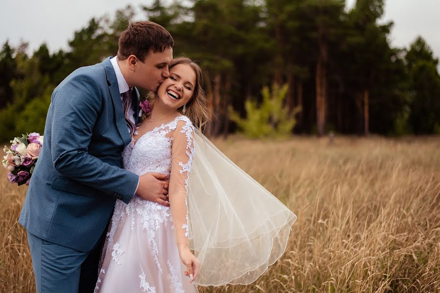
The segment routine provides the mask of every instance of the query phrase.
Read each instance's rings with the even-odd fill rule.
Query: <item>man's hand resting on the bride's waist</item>
[[[168,199],[168,175],[148,172],[139,176],[139,178],[139,187],[136,194],[145,200],[169,207],[169,202],[165,201]]]

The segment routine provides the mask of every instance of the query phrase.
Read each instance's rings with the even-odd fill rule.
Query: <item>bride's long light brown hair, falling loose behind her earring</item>
[[[194,127],[197,127],[202,131],[202,126],[208,122],[208,101],[203,90],[203,72],[197,63],[194,63],[191,59],[186,57],[175,58],[169,63],[168,69],[170,70],[178,64],[187,64],[191,66],[196,74],[196,84],[194,86],[194,92],[191,99],[185,105],[185,116],[191,120]],[[155,94],[150,93],[148,96],[149,102],[154,105]],[[183,106],[178,109],[181,113],[183,112]]]

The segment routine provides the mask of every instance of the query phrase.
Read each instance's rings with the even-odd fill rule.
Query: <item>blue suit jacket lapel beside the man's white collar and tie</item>
[[[116,127],[125,146],[128,146],[131,142],[131,136],[125,123],[124,109],[122,108],[121,94],[119,93],[119,86],[117,85],[115,69],[113,69],[112,63],[110,62],[110,57],[104,60],[102,64],[104,65],[105,74],[107,75],[109,91],[115,108]]]

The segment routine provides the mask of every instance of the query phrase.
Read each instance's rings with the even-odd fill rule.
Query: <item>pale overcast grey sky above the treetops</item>
[[[417,35],[440,56],[440,0],[385,0],[382,21],[394,21],[391,43],[408,47]],[[0,4],[0,43],[6,40],[16,46],[20,40],[29,42],[29,53],[46,42],[49,49],[67,49],[73,32],[84,27],[96,16],[109,14],[132,4],[148,5],[153,0],[2,0]],[[166,1],[169,2],[169,1]],[[347,6],[355,0],[347,0]],[[139,14],[138,19],[142,15]]]

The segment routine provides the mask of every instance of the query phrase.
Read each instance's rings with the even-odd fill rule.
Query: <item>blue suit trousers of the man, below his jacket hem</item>
[[[104,237],[105,232],[92,251],[83,252],[27,232],[37,293],[92,293]]]

